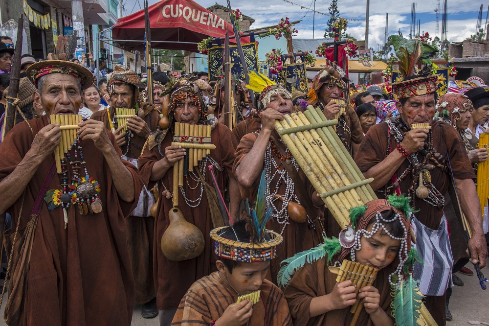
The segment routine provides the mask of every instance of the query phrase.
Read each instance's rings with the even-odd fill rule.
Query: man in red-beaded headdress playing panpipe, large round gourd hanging
[[[160,325],[169,325],[183,297],[193,282],[215,271],[215,259],[211,253],[211,239],[208,234],[212,229],[211,212],[204,185],[200,179],[212,185],[209,165],[213,165],[216,180],[222,189],[228,189],[230,196],[230,214],[234,218],[240,201],[239,188],[232,171],[236,141],[226,126],[216,121],[214,115],[208,115],[208,109],[202,97],[202,91],[210,91],[210,86],[203,80],[195,82],[180,79],[169,88],[168,114],[163,115],[160,126],[165,126],[148,140],[143,155],[139,157],[139,170],[148,188],[157,183],[159,189],[158,210],[155,220],[154,237],[154,275],[156,286],[156,302],[160,309]],[[211,125],[210,142],[216,146],[210,154],[204,155],[199,164],[174,192],[174,173],[178,161],[184,158],[186,150],[183,146],[171,145],[174,139],[175,122],[197,125]],[[182,133],[179,133],[180,135]],[[177,164],[176,164],[177,163]],[[190,162],[189,162],[190,165]],[[200,172],[197,172],[197,170]],[[219,191],[216,189],[216,191]],[[220,194],[217,193],[219,196]],[[172,197],[177,197],[173,198]],[[163,255],[160,240],[169,226],[169,211],[178,200],[178,209],[185,220],[195,225],[204,235],[203,252],[192,259],[173,261]],[[227,220],[227,218],[226,218]]]

